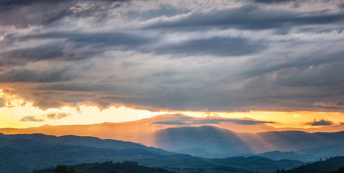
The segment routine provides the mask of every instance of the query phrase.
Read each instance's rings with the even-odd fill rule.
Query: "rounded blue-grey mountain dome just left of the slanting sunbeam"
[[[213,126],[167,128],[153,135],[158,148],[199,157],[228,157],[253,152],[235,132]]]

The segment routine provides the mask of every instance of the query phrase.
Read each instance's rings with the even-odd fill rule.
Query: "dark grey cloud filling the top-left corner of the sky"
[[[102,19],[107,16],[107,12],[110,9],[120,6],[112,4],[116,2],[121,2],[121,0],[1,1],[0,15],[6,16],[6,18],[0,19],[0,25],[14,25],[15,27],[23,28],[30,25],[49,25],[65,17],[77,19],[94,16],[97,19]],[[78,3],[89,3],[89,8],[80,9]]]

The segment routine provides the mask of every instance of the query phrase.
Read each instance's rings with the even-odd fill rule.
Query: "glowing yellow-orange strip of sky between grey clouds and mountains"
[[[149,118],[160,114],[182,113],[192,117],[224,117],[232,119],[255,119],[265,122],[275,128],[311,128],[305,122],[314,119],[325,119],[333,125],[341,124],[344,113],[319,111],[248,111],[248,112],[208,112],[208,111],[148,111],[127,106],[111,106],[100,110],[97,106],[80,105],[78,108],[63,106],[61,108],[48,108],[42,110],[32,102],[23,100],[20,95],[8,94],[0,89],[0,97],[5,100],[0,108],[0,128],[29,128],[46,124],[72,125],[72,124],[99,124],[103,122],[129,122]],[[49,118],[52,113],[64,113],[65,117]],[[35,117],[36,121],[21,121],[23,117]]]

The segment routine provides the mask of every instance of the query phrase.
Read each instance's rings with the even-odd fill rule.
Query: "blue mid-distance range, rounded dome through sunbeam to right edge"
[[[208,158],[261,153],[260,156],[270,159],[316,161],[320,157],[344,154],[344,131],[275,131],[255,134],[198,126],[166,128],[153,135],[158,148]],[[279,152],[269,153],[272,151]]]

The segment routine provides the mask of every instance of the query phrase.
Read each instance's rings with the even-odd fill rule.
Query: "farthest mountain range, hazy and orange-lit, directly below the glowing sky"
[[[343,125],[326,126],[320,128],[275,128],[268,126],[265,122],[253,119],[228,119],[223,117],[190,117],[182,114],[164,114],[155,117],[140,119],[132,122],[101,123],[88,125],[61,125],[61,126],[39,126],[32,128],[0,128],[3,134],[32,134],[43,133],[45,135],[78,135],[92,136],[101,139],[116,139],[122,141],[133,141],[143,143],[146,146],[154,146],[153,132],[166,128],[195,126],[214,126],[224,128],[233,132],[268,132],[297,130],[305,132],[333,132],[343,131]]]

